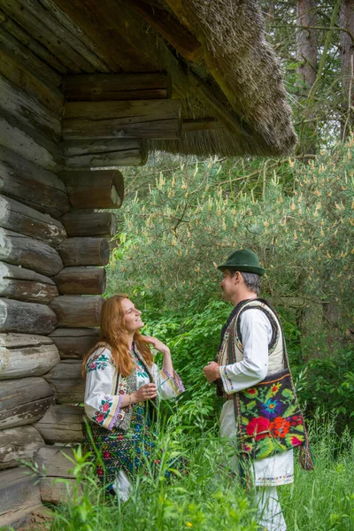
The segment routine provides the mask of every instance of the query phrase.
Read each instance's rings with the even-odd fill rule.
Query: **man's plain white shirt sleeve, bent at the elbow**
[[[272,336],[269,319],[255,308],[243,312],[240,319],[243,359],[219,367],[227,395],[256,385],[266,378],[268,372],[268,343]]]

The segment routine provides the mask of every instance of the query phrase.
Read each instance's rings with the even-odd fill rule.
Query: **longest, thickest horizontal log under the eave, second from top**
[[[69,102],[65,104],[65,140],[90,138],[174,139],[181,136],[181,100]]]

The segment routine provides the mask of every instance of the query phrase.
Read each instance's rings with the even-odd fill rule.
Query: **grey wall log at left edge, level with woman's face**
[[[0,332],[48,335],[56,325],[55,313],[45,304],[0,299]]]

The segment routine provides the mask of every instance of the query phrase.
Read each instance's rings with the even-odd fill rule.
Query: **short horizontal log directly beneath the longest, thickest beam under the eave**
[[[138,138],[71,140],[61,146],[67,168],[144,165],[148,159],[146,144]]]

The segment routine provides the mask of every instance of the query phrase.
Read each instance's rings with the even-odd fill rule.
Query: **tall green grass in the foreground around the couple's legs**
[[[315,419],[311,434],[316,470],[304,472],[296,459],[295,483],[279,489],[288,530],[354,531],[353,440],[347,431],[335,435],[334,419]],[[258,529],[250,496],[222,466],[227,447],[215,430],[203,430],[196,437],[194,428],[179,427],[178,416],[173,415],[158,438],[165,459],[157,472],[148,466],[147,473],[138,475],[126,504],[104,494],[92,468],[88,473],[87,458],[79,455],[77,488],[68,504],[57,509],[50,531]],[[177,471],[167,480],[168,461],[177,455],[189,459],[188,473]]]

